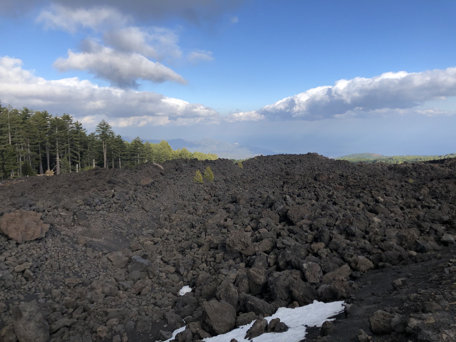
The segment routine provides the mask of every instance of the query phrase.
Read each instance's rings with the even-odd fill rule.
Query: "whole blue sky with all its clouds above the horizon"
[[[2,2],[2,104],[145,139],[456,152],[455,1]]]

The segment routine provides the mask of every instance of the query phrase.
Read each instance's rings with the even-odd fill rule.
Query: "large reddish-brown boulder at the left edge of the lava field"
[[[44,238],[49,224],[41,221],[40,212],[16,210],[0,218],[0,233],[8,235],[17,243]]]

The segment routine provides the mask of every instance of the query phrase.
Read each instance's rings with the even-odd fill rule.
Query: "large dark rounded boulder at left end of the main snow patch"
[[[217,334],[225,334],[235,326],[236,311],[226,301],[204,301],[202,311],[204,321]]]

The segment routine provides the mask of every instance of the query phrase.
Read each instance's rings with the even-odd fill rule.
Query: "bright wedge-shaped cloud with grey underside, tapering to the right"
[[[83,52],[68,50],[67,58],[58,58],[53,66],[59,71],[88,71],[99,78],[120,86],[137,86],[136,80],[143,79],[162,83],[174,81],[185,84],[184,78],[158,62],[152,62],[135,52],[119,52],[110,47],[86,40]]]

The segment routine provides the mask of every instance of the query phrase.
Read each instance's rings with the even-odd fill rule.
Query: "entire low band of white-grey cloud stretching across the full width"
[[[454,115],[456,111],[417,107],[429,100],[456,96],[456,67],[422,73],[384,73],[373,78],[340,80],[284,98],[258,111],[227,116],[203,104],[119,87],[99,87],[88,80],[46,80],[22,68],[22,61],[0,58],[3,104],[70,113],[84,124],[107,119],[116,127],[218,124],[247,121],[313,121],[346,117],[418,114]]]

